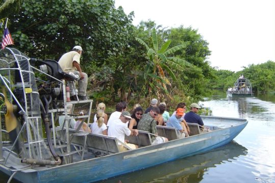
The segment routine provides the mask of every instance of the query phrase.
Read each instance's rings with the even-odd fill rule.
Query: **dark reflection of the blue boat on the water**
[[[247,150],[232,141],[201,155],[163,163],[98,182],[200,182],[209,168],[237,160],[239,156],[245,156],[248,153]]]

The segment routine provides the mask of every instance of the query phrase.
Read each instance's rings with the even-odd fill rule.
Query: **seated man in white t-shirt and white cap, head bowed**
[[[108,128],[108,136],[116,137],[120,142],[119,151],[126,151],[129,149],[136,149],[139,146],[125,141],[125,135],[139,135],[139,131],[136,129],[128,129],[127,122],[131,119],[131,114],[128,111],[122,111],[119,119],[115,119]]]

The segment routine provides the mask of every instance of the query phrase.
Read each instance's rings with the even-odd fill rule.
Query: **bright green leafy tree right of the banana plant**
[[[214,69],[207,61],[211,51],[208,43],[198,34],[198,31],[183,25],[170,29],[168,39],[171,39],[171,45],[186,44],[184,49],[178,50],[174,56],[184,58],[192,64],[192,68],[184,68],[178,72],[181,83],[177,84],[180,90],[186,95],[193,96],[194,100],[201,100],[204,96],[211,94],[212,83],[210,80],[214,77]]]

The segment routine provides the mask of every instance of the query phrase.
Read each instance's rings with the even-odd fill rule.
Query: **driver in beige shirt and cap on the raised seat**
[[[62,70],[66,73],[72,72],[75,75],[79,76],[78,80],[78,99],[79,100],[86,100],[86,90],[88,85],[88,75],[82,72],[80,67],[80,56],[83,50],[81,46],[73,47],[72,51],[69,51],[61,56],[59,59],[59,65]],[[73,92],[73,85],[71,82],[70,84],[70,96],[73,100],[76,100],[75,93]]]

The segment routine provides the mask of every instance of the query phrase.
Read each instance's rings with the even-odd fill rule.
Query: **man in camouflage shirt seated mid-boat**
[[[152,107],[150,112],[147,114],[143,114],[142,118],[139,121],[139,124],[137,124],[137,130],[143,130],[150,132],[152,134],[157,135],[157,129],[156,129],[156,120],[154,119],[159,114],[159,108],[158,107]],[[165,137],[156,137],[152,136],[152,144],[159,144],[162,142],[168,142],[168,139]]]

